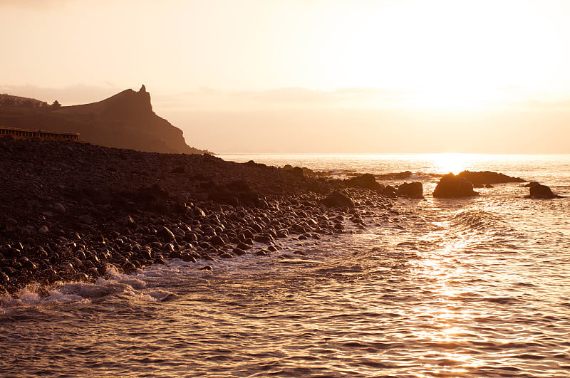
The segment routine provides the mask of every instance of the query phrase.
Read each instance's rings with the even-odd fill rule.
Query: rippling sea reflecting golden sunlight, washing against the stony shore
[[[110,272],[46,298],[28,288],[0,305],[0,376],[570,376],[570,155],[219,157],[339,178],[409,170],[388,183],[420,181],[425,199],[269,256]],[[524,199],[522,184],[431,196],[463,169],[564,197]]]

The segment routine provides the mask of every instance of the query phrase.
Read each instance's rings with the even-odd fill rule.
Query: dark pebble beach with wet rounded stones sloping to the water
[[[79,142],[0,140],[0,296],[168,258],[278,253],[279,239],[364,229],[393,199],[264,164]]]

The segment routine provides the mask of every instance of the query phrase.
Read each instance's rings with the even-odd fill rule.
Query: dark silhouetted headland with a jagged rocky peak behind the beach
[[[0,102],[0,126],[78,132],[81,140],[93,145],[138,151],[185,154],[208,152],[188,146],[182,130],[152,111],[150,93],[146,91],[145,85],[138,92],[123,90],[98,103],[86,105],[60,107],[46,104],[38,107],[26,106],[29,102],[25,100],[16,104]]]

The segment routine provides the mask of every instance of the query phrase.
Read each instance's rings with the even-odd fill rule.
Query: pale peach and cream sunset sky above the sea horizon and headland
[[[570,153],[570,1],[0,0],[0,93],[217,153]]]

